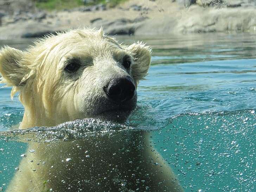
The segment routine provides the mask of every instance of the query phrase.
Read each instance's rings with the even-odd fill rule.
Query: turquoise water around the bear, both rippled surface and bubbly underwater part
[[[151,129],[155,148],[185,191],[256,191],[256,36],[140,39],[154,49],[152,66],[127,124]],[[3,44],[24,49],[31,41]],[[23,107],[17,98],[10,100],[10,90],[0,89],[0,131],[22,120]],[[0,140],[3,191],[26,145]]]

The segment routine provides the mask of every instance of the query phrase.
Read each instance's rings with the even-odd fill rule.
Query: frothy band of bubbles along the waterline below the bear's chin
[[[51,142],[83,139],[89,135],[110,134],[124,130],[135,130],[126,124],[102,121],[98,119],[74,120],[53,127],[33,127],[29,129],[11,129],[0,132],[4,140],[21,142]]]

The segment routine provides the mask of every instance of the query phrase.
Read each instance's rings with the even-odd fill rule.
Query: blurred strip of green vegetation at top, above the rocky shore
[[[84,4],[83,0],[34,0],[36,7],[39,9],[45,9],[47,11],[72,9],[79,6],[90,6],[97,4],[105,4],[108,7],[115,7],[127,0],[92,0],[91,2]]]

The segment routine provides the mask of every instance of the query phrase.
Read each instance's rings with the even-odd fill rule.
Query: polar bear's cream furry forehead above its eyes
[[[51,66],[55,63],[55,66],[60,68],[68,58],[72,57],[89,61],[98,59],[120,61],[124,56],[130,56],[133,60],[133,55],[130,55],[126,46],[120,45],[114,38],[99,31],[82,32],[71,31],[41,39],[28,50],[28,55],[34,56],[34,60],[37,61],[34,64],[37,68],[45,68],[49,63]]]

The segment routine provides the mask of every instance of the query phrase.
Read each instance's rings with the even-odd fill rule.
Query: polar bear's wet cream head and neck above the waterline
[[[0,51],[1,83],[19,91],[21,128],[84,118],[125,121],[136,107],[151,48],[118,44],[102,30],[77,29],[38,40],[26,51]]]

